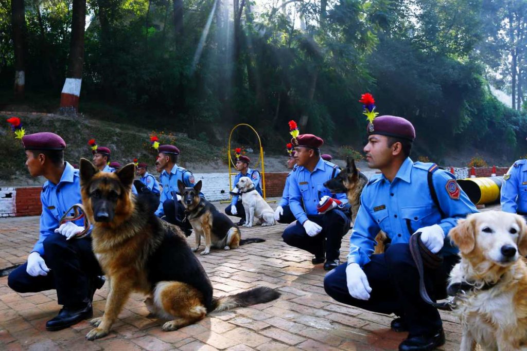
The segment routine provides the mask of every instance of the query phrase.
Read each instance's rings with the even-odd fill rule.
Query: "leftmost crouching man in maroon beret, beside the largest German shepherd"
[[[92,317],[93,294],[104,280],[90,236],[75,238],[85,229],[82,220],[59,224],[72,205],[82,202],[79,170],[63,159],[66,143],[53,133],[26,135],[22,143],[31,176],[44,176],[47,182],[41,193],[38,241],[27,262],[9,274],[7,285],[18,293],[56,289],[63,308],[46,329],[60,330]]]

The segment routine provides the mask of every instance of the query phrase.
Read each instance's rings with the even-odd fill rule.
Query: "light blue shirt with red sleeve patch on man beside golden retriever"
[[[379,230],[392,239],[392,244],[407,244],[418,229],[434,224],[441,226],[445,235],[441,253],[457,253],[457,247],[451,245],[446,235],[459,218],[476,213],[477,209],[454,176],[437,169],[432,180],[445,214],[442,218],[428,187],[428,169],[434,166],[406,158],[392,183],[383,174],[370,178],[360,196],[360,208],[350,237],[348,264],[357,263],[362,267],[370,261]]]

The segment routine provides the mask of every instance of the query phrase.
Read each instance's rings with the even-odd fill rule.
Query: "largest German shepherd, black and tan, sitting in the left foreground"
[[[155,216],[131,193],[134,164],[115,173],[99,172],[87,159],[80,163],[85,215],[93,223],[92,247],[110,293],[104,315],[91,320],[94,340],[107,335],[131,292],[148,296],[151,313],[169,319],[163,330],[175,330],[209,312],[265,303],[280,296],[267,287],[214,298],[212,285],[181,229]]]

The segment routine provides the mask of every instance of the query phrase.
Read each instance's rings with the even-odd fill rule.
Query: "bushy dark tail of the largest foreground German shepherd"
[[[214,298],[212,312],[222,312],[236,307],[247,307],[256,304],[263,304],[280,297],[280,293],[266,286],[250,289],[246,292]]]

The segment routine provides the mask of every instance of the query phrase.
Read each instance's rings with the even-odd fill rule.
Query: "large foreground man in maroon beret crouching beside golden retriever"
[[[443,326],[437,309],[419,295],[409,238],[421,232],[423,244],[443,256],[442,266],[425,270],[425,278],[431,298],[444,298],[448,274],[458,261],[447,234],[459,218],[477,210],[452,174],[409,158],[415,130],[406,119],[379,116],[368,124],[368,134],[366,161],[382,174],[364,188],[348,262],[326,275],[324,288],[338,302],[397,315],[392,329],[409,332],[399,350],[432,350],[445,342]],[[385,253],[373,255],[379,230],[392,242]]]

